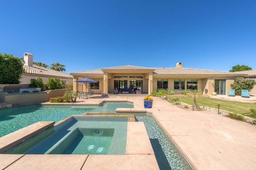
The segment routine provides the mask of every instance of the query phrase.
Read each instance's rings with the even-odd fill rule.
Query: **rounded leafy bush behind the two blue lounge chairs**
[[[244,90],[252,90],[256,81],[250,78],[237,77],[235,82],[230,85],[232,89],[238,92],[237,95],[241,95],[242,89]]]

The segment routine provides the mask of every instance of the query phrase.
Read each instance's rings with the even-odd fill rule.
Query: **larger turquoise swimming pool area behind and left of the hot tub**
[[[115,112],[116,108],[134,108],[130,102],[104,102],[101,105],[29,105],[0,111],[0,137],[38,121],[58,122],[85,112]]]

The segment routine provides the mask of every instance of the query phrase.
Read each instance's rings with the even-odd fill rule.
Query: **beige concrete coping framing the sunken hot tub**
[[[66,117],[65,120],[68,120],[72,116],[85,116],[85,117],[91,117],[91,116],[102,116],[102,115],[70,115],[69,117]],[[107,115],[106,117],[120,117],[124,115]],[[28,167],[31,167],[32,169],[40,166],[44,166],[46,168],[49,164],[49,162],[52,164],[52,167],[57,166],[56,169],[63,169],[64,167],[67,169],[76,169],[79,167],[79,169],[97,169],[99,168],[99,164],[95,164],[94,161],[97,160],[97,162],[100,162],[101,167],[116,167],[116,169],[126,169],[127,167],[148,167],[148,169],[159,169],[158,163],[156,161],[156,157],[154,155],[153,148],[151,146],[150,140],[148,138],[148,134],[146,132],[146,128],[144,126],[143,122],[135,122],[134,115],[126,115],[129,117],[129,121],[127,124],[127,140],[126,140],[126,154],[125,155],[59,155],[54,154],[55,157],[52,157],[52,155],[35,155],[35,154],[0,154],[0,159],[4,160],[0,163],[0,169],[29,169]],[[132,118],[133,117],[133,118]],[[31,136],[35,135],[38,131],[42,131],[44,129],[59,125],[65,120],[58,121],[54,124],[54,122],[39,122],[34,123],[28,127],[22,128],[20,130],[17,130],[16,133],[19,133],[19,138],[16,138],[16,133],[10,133],[5,136],[4,138],[0,138],[0,143],[8,143],[6,139],[12,138],[12,140],[17,139],[17,141],[22,142],[22,140],[26,140],[30,138]],[[32,128],[33,127],[33,128]],[[34,129],[34,130],[33,130]],[[29,134],[28,134],[29,133]],[[22,139],[22,140],[21,140]],[[17,144],[17,143],[16,143]],[[10,149],[13,147],[13,145],[7,145]],[[77,159],[74,159],[74,157],[78,157],[79,161],[77,162]],[[66,164],[66,160],[68,159],[69,164]],[[111,159],[109,161],[108,159]],[[37,160],[37,161],[35,161]],[[54,161],[58,160],[58,162]],[[132,163],[127,164],[131,160]],[[38,164],[39,162],[39,164]],[[54,166],[55,165],[55,166]],[[51,168],[52,168],[51,167]],[[49,167],[50,168],[50,167]]]

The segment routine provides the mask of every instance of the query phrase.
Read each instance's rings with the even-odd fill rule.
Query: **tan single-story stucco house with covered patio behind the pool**
[[[226,95],[230,84],[236,77],[245,77],[245,73],[212,71],[204,69],[182,68],[182,63],[172,68],[148,68],[132,65],[108,67],[89,71],[70,73],[74,77],[74,91],[94,90],[95,93],[113,93],[114,89],[141,89],[148,95],[157,89],[173,89],[175,94],[182,90],[200,89],[204,94],[217,92]],[[78,79],[88,77],[97,83],[77,83]]]

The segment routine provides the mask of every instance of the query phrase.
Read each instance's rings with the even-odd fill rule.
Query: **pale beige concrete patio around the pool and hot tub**
[[[154,115],[195,169],[255,169],[256,128],[208,111],[185,111],[158,97],[153,97],[152,109],[144,109],[143,97],[95,95],[94,99],[80,99],[74,104],[133,102],[134,108],[119,111],[148,112]],[[134,127],[132,122],[129,126],[129,133],[135,129],[134,133],[138,134],[144,131],[142,127]],[[150,145],[148,141],[146,144]],[[134,145],[130,143],[130,146]],[[0,159],[0,169],[158,169],[153,153],[136,154],[135,150],[126,155],[0,154]]]

